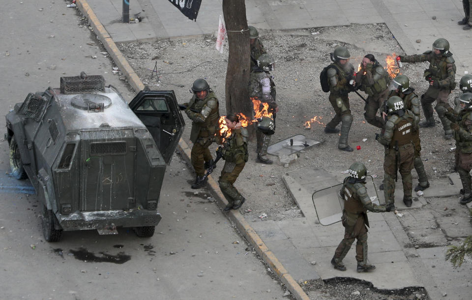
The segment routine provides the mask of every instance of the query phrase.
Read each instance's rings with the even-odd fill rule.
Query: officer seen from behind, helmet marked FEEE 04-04
[[[418,130],[414,114],[405,109],[402,98],[392,96],[388,98],[388,115],[383,134],[376,135],[376,139],[385,146],[385,160],[383,162],[383,192],[385,205],[389,209],[394,206],[394,192],[397,169],[402,176],[403,202],[407,207],[412,206],[412,169],[413,169],[413,132]]]

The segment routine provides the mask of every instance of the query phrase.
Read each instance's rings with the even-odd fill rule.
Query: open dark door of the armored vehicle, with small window
[[[185,122],[174,91],[140,91],[129,107],[146,125],[166,164],[170,164]]]

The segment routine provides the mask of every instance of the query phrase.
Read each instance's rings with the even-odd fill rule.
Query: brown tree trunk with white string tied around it
[[[251,55],[244,0],[223,0],[223,16],[230,52],[226,70],[226,112],[242,112],[250,119],[253,109],[248,88]],[[248,130],[252,132],[252,126]]]

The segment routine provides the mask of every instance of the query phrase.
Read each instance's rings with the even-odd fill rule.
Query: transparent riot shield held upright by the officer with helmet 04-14
[[[368,178],[370,178],[370,180]],[[374,178],[371,175],[367,175],[366,182],[365,187],[372,203],[379,205],[379,195],[377,194]],[[343,184],[340,183],[329,188],[324,188],[315,191],[311,196],[313,205],[315,206],[316,216],[323,226],[341,221],[344,199],[339,194],[339,191],[342,186]]]

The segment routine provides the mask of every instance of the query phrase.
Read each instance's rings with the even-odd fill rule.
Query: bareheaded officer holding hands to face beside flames
[[[379,108],[387,100],[390,78],[383,66],[375,59],[374,55],[365,55],[360,64],[360,70],[356,73],[355,84],[361,91],[367,94],[364,106],[365,120],[376,127],[383,128],[383,118],[377,115]]]

